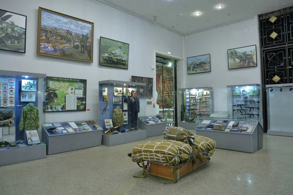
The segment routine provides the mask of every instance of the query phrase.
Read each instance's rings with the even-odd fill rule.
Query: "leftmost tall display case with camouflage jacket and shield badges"
[[[45,157],[40,142],[45,78],[0,70],[0,166]]]

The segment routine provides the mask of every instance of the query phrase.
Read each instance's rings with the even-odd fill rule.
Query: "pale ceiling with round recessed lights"
[[[189,35],[293,5],[293,0],[98,1],[104,1],[180,35]],[[223,8],[217,9],[218,5]],[[195,12],[200,12],[200,15],[195,16]]]

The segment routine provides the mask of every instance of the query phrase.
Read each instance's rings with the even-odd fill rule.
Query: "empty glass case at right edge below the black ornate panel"
[[[293,137],[293,84],[266,86],[268,135]]]

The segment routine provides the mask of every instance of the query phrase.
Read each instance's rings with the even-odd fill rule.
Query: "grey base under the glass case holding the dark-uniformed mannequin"
[[[111,136],[103,134],[102,137],[103,145],[115,146],[146,139],[146,130],[118,133]]]

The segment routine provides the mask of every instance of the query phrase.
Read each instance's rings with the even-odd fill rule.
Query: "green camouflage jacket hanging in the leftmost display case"
[[[19,130],[36,130],[39,127],[39,109],[33,103],[29,103],[22,109]]]

